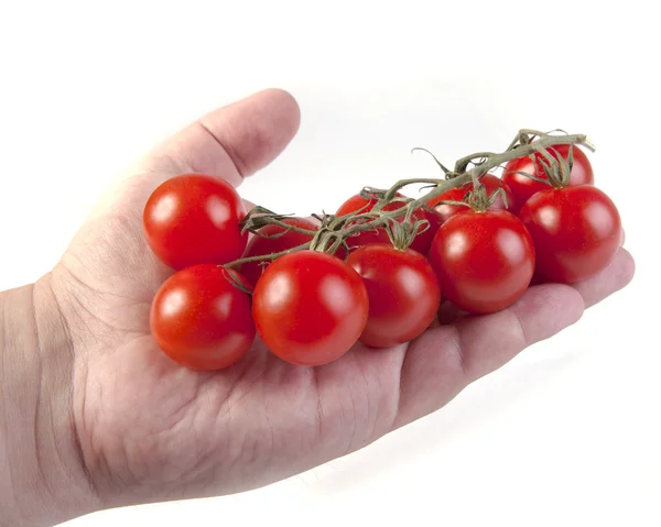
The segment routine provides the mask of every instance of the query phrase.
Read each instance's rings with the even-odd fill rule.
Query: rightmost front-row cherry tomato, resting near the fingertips
[[[596,275],[619,248],[619,212],[592,185],[538,193],[519,217],[534,241],[538,273],[553,282],[571,284]]]

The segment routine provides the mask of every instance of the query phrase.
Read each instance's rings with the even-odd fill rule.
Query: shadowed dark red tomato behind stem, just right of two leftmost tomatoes
[[[311,231],[316,231],[318,229],[318,227],[312,221],[303,218],[286,218],[282,221],[289,226],[297,227],[300,229],[307,229]],[[312,234],[303,234],[302,232],[286,230],[284,227],[273,224],[262,227],[259,232],[268,237],[273,237],[274,234],[280,234],[282,232],[284,232],[284,234],[277,238],[262,238],[260,235],[252,237],[252,239],[248,242],[243,257],[279,253],[302,245],[303,243],[307,243],[312,241],[313,238]],[[241,265],[239,271],[248,279],[248,282],[254,285],[262,275],[264,267],[266,265],[262,265],[261,262],[247,262]]]

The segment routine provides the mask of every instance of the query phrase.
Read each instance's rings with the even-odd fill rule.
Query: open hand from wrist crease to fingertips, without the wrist
[[[299,121],[280,90],[204,117],[139,163],[48,275],[74,349],[77,439],[104,505],[245,491],[344,455],[442,407],[631,279],[620,249],[586,283],[531,287],[509,309],[437,326],[409,345],[356,345],[313,369],[280,361],[257,340],[226,371],[183,369],[149,332],[151,300],[172,271],[143,239],[144,202],[184,172],[238,185],[286,146]]]

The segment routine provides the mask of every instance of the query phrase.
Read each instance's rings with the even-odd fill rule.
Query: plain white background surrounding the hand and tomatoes
[[[57,261],[102,190],[201,113],[278,86],[297,139],[241,193],[334,210],[520,128],[587,133],[638,271],[443,410],[270,487],[76,527],[661,525],[661,48],[653,2],[0,0],[0,287]],[[655,51],[654,51],[655,50]]]

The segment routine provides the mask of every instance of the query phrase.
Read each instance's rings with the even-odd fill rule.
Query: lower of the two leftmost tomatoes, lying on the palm
[[[241,359],[254,339],[250,295],[235,271],[193,265],[167,278],[151,307],[151,332],[166,355],[193,370],[220,370]]]

